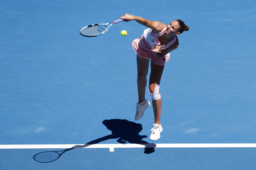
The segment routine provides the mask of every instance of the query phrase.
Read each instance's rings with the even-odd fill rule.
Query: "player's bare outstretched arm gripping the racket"
[[[124,21],[131,21],[135,20],[139,24],[146,26],[148,28],[152,28],[154,30],[154,33],[161,32],[167,25],[164,23],[161,23],[159,21],[150,21],[148,19],[144,19],[142,17],[138,17],[135,15],[125,14],[124,16],[120,17],[121,19],[124,19]]]

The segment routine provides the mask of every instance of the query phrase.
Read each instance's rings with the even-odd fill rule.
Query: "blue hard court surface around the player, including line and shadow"
[[[151,106],[134,121],[131,43],[146,27],[131,21],[99,37],[79,33],[125,13],[190,27],[164,68],[157,141],[149,140]],[[255,20],[254,0],[2,2],[0,169],[255,169]],[[47,161],[48,151],[65,153],[35,160],[41,153]]]

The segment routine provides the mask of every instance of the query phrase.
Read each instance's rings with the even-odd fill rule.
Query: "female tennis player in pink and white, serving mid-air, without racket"
[[[135,120],[139,120],[144,115],[144,111],[150,106],[150,102],[145,99],[145,90],[149,62],[151,60],[148,91],[152,98],[155,122],[149,139],[157,140],[163,131],[160,122],[162,107],[162,99],[159,92],[160,80],[165,63],[170,59],[170,52],[179,46],[177,35],[183,33],[183,31],[188,31],[189,27],[179,19],[172,21],[167,26],[158,21],[149,21],[130,14],[125,14],[120,18],[126,22],[135,20],[139,24],[148,27],[148,29],[144,30],[140,39],[132,41],[132,48],[137,53],[137,85],[139,95]]]

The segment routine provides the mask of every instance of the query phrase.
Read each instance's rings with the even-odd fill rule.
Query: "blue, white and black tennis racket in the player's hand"
[[[105,23],[105,24],[92,24],[89,26],[85,26],[80,30],[80,34],[85,37],[96,37],[106,33],[110,26],[113,26],[114,24],[121,21],[123,21],[123,19],[117,19],[113,22]]]

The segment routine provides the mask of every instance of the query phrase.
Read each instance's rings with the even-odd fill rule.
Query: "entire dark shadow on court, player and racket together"
[[[52,162],[59,159],[63,153],[69,150],[72,150],[75,148],[85,148],[92,144],[98,144],[108,139],[117,139],[117,142],[119,142],[120,144],[127,144],[127,143],[142,144],[142,145],[145,144],[144,153],[149,154],[149,153],[155,152],[154,148],[156,147],[156,144],[148,145],[149,144],[148,142],[142,140],[147,136],[139,135],[140,131],[142,130],[142,125],[140,123],[131,122],[125,119],[104,120],[102,123],[107,127],[108,130],[112,131],[111,135],[107,135],[107,136],[95,139],[84,145],[76,145],[76,146],[73,146],[72,148],[68,148],[62,151],[40,152],[34,155],[33,159],[41,163]]]

